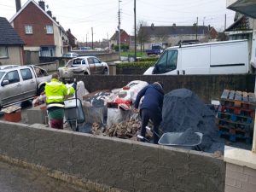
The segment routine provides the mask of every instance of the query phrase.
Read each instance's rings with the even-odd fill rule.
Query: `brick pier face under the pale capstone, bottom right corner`
[[[227,163],[225,181],[225,192],[255,192],[256,170]]]

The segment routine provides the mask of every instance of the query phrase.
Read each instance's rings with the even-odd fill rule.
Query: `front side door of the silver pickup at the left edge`
[[[1,82],[1,91],[3,91],[2,105],[7,105],[11,102],[19,102],[23,97],[22,85],[18,70],[13,70],[6,73]]]

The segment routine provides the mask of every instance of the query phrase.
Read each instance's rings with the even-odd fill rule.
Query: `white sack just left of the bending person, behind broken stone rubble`
[[[122,121],[127,121],[131,117],[131,110],[124,111],[119,108],[108,108],[107,126],[111,127],[113,124],[118,124]]]

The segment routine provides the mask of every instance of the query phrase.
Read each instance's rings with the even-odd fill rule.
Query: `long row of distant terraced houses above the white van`
[[[218,37],[218,32],[212,26],[140,26],[138,32],[138,44],[143,44],[145,49],[150,44],[167,44],[173,46],[180,41],[208,42]]]

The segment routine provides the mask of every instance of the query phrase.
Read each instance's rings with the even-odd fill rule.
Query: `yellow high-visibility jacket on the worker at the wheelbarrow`
[[[51,79],[44,88],[47,108],[64,108],[64,96],[72,96],[75,92],[73,87],[67,88],[65,84],[57,79]]]

